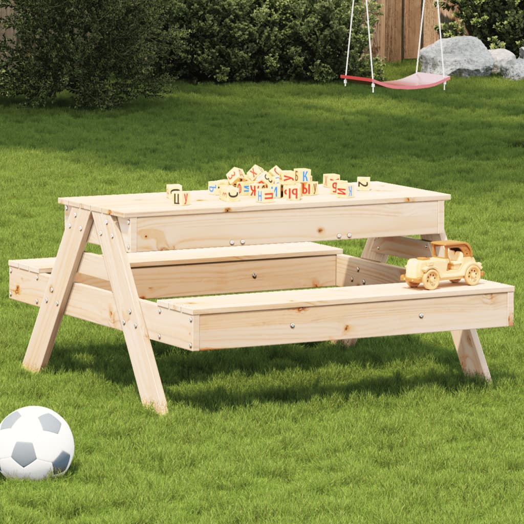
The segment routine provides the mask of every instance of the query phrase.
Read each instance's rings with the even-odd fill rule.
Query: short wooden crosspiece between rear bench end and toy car
[[[360,257],[350,255],[337,255],[336,257],[337,286],[372,286],[399,282],[400,275],[405,272],[406,270],[402,267]]]

